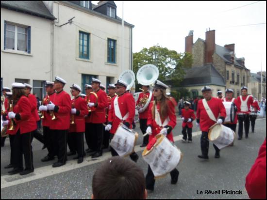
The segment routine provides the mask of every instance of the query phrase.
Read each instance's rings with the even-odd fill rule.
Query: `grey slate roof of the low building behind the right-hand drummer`
[[[218,85],[225,86],[224,78],[212,64],[186,70],[181,86]]]

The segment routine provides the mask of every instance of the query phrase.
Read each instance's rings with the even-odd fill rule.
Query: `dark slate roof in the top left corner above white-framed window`
[[[1,7],[50,20],[56,19],[47,9],[43,1],[1,0]]]

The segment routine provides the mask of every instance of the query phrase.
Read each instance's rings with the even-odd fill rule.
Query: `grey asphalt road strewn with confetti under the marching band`
[[[170,185],[170,176],[156,181],[155,190],[149,199],[249,199],[245,189],[245,178],[257,157],[259,147],[266,138],[266,118],[257,119],[255,133],[249,134],[249,139],[235,140],[233,147],[221,150],[221,157],[214,158],[215,150],[210,142],[208,161],[197,157],[200,154],[200,132],[193,128],[193,142],[182,143],[182,123],[174,129],[175,144],[184,154],[178,165],[180,171],[177,185]],[[194,123],[195,125],[195,123]],[[139,133],[135,151],[139,155],[138,166],[147,173],[148,165],[141,157],[142,143],[139,123],[136,129]],[[250,128],[251,129],[251,128]],[[43,163],[40,159],[47,154],[41,150],[42,144],[33,140],[34,172],[25,176],[8,175],[10,169],[3,169],[9,164],[9,140],[1,148],[1,199],[90,199],[92,194],[92,177],[101,162],[111,156],[106,152],[98,159],[92,160],[86,156],[83,163],[77,164],[68,156],[65,166],[52,168],[55,161]],[[86,146],[85,146],[86,147]],[[105,151],[104,151],[105,152]],[[220,194],[205,194],[219,191]],[[228,191],[228,194],[222,192]],[[201,191],[203,194],[200,194]],[[230,194],[229,194],[230,193]],[[233,194],[237,193],[237,194]],[[241,194],[240,194],[241,193]]]

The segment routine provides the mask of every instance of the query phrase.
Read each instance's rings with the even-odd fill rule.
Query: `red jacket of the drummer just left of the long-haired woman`
[[[134,120],[134,115],[135,115],[135,101],[134,101],[134,96],[129,93],[125,92],[122,95],[118,96],[118,107],[121,113],[121,116],[124,117],[128,112],[129,116],[126,120],[121,121],[116,115],[115,115],[115,108],[114,108],[114,101],[115,97],[112,98],[111,100],[111,108],[108,113],[108,122],[112,123],[112,127],[110,130],[110,133],[115,134],[117,131],[117,127],[119,123],[123,122],[128,122],[130,124],[130,128],[132,128],[132,123]]]

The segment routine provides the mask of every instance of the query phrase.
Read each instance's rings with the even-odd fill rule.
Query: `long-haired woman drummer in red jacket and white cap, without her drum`
[[[150,103],[148,115],[149,142],[157,135],[164,134],[171,142],[173,135],[171,130],[176,125],[175,107],[173,102],[166,96],[168,86],[163,82],[156,80],[153,88],[154,101]],[[159,115],[159,116],[158,116]],[[157,117],[158,116],[158,117]],[[159,122],[161,121],[161,122]],[[170,172],[171,184],[178,181],[179,171],[175,168]],[[146,175],[146,189],[153,191],[155,185],[154,174],[150,168]]]

